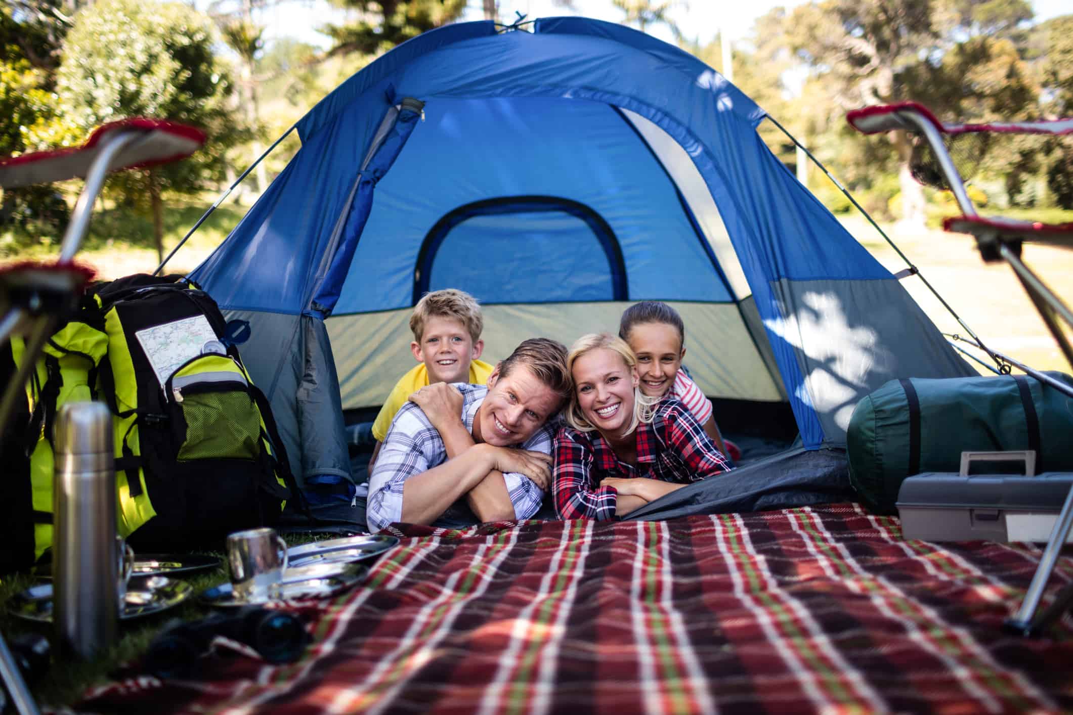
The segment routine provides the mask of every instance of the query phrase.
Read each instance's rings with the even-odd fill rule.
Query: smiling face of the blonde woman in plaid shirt
[[[633,421],[637,371],[613,349],[598,347],[574,360],[571,371],[582,415],[604,435],[620,435]]]

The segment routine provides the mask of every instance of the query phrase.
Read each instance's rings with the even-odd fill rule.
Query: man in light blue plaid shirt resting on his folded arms
[[[534,338],[496,366],[487,387],[438,383],[414,392],[369,477],[369,531],[532,517],[550,488],[547,422],[570,390],[567,348]]]

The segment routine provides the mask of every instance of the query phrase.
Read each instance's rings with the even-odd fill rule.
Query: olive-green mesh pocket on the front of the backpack
[[[187,423],[180,461],[256,459],[261,453],[260,413],[247,392],[186,390],[179,407]]]

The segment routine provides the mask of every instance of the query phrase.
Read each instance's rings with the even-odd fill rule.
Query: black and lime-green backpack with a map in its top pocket
[[[5,435],[29,455],[31,503],[15,485],[3,491],[23,500],[14,509],[33,522],[33,550],[0,568],[26,567],[52,546],[52,427],[75,400],[112,409],[117,528],[135,551],[219,547],[231,532],[276,523],[296,487],[268,401],[227,330],[216,301],[178,277],[131,275],[86,292],[27,385],[27,427]],[[16,361],[21,351],[13,340]],[[6,472],[6,482],[19,479]],[[25,541],[25,525],[10,528]]]

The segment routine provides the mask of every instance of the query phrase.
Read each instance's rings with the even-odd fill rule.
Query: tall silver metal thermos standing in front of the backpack
[[[56,416],[53,617],[58,650],[89,658],[119,630],[119,541],[112,413],[73,402]]]

